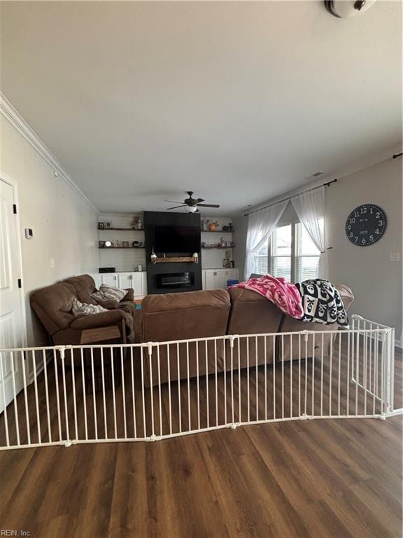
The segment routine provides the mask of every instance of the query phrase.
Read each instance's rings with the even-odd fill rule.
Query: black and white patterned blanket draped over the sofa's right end
[[[295,284],[302,298],[302,322],[348,326],[346,309],[339,291],[328,280],[304,280]]]

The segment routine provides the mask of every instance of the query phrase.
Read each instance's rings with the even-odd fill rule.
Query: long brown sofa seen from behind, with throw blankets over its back
[[[346,286],[337,286],[346,309],[353,301],[353,294]],[[191,338],[209,338],[229,334],[259,334],[287,333],[292,331],[332,331],[337,325],[304,323],[284,315],[273,303],[254,291],[234,288],[229,292],[222,289],[208,291],[191,291],[181,294],[149,295],[144,298],[141,310],[141,341],[164,342],[170,340],[188,340]],[[293,355],[298,346],[298,336],[283,338],[246,338],[239,339],[232,352],[229,340],[225,343],[213,340],[201,343],[181,343],[160,346],[160,356],[157,348],[152,348],[150,357],[144,355],[144,378],[146,386],[155,385],[160,381],[184,379],[217,371],[229,371],[232,367],[272,363],[273,361],[292,359],[290,339],[292,338]],[[276,340],[274,342],[274,340]],[[318,339],[317,339],[318,340]],[[332,335],[324,338],[324,354],[330,347]],[[321,348],[321,342],[315,343]],[[257,354],[255,346],[257,345]],[[313,337],[308,338],[308,350],[311,356]],[[187,351],[189,350],[189,361]],[[206,364],[206,350],[208,361]],[[321,351],[321,350],[320,350]],[[169,355],[169,360],[168,360]],[[180,360],[178,361],[178,355]],[[198,359],[198,360],[197,360]],[[178,364],[179,362],[179,364]],[[188,365],[189,362],[189,365]],[[158,368],[158,363],[160,368]],[[198,370],[197,370],[198,366]],[[179,374],[179,375],[178,375]]]

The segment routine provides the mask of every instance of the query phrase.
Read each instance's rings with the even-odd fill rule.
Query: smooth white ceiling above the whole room
[[[401,141],[399,1],[351,20],[321,1],[1,12],[1,90],[103,212],[192,190],[232,214]]]

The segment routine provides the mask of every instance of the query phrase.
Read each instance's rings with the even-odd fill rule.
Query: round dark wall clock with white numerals
[[[378,205],[359,205],[348,215],[346,235],[353,244],[368,247],[381,239],[386,222],[386,213]]]

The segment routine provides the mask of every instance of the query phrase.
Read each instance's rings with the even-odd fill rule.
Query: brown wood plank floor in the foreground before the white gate
[[[8,450],[0,483],[0,532],[34,538],[401,538],[402,417]]]

